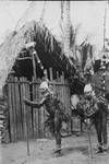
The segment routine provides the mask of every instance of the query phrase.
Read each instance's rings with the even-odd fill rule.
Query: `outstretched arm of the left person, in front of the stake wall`
[[[29,99],[27,99],[27,98],[24,97],[24,103],[26,105],[28,105],[28,106],[39,108],[39,107],[41,107],[45,104],[45,98],[41,99],[39,103],[37,103],[37,102],[33,102],[33,101],[29,101]]]

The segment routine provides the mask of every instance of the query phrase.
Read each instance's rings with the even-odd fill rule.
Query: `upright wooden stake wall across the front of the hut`
[[[51,72],[51,71],[50,71]],[[50,73],[50,86],[59,98],[64,103],[66,109],[70,109],[70,86],[64,74],[57,75],[56,80],[52,80],[52,73]],[[58,74],[58,73],[57,73]],[[9,136],[11,142],[17,140],[25,140],[28,138],[45,138],[50,133],[45,129],[46,110],[44,107],[33,109],[25,106],[23,103],[23,96],[31,99],[39,99],[40,79],[27,81],[25,78],[10,77],[8,86],[8,108],[9,108]]]

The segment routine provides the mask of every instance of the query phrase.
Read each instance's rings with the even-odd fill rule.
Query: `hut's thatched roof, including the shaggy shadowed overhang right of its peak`
[[[44,50],[38,51],[38,55],[45,67],[51,65],[59,70],[66,71],[70,63],[68,58],[62,55],[60,43],[55,39],[43,22],[32,21],[17,32],[13,32],[0,48],[0,85],[4,84],[15,59],[25,48],[25,44],[29,42],[36,42],[37,51]],[[49,58],[52,58],[51,62],[49,62]]]

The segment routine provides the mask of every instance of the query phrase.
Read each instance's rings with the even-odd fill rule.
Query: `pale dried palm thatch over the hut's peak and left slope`
[[[55,51],[55,46],[59,45],[43,22],[28,22],[20,31],[12,32],[7,37],[0,48],[0,86],[4,85],[16,57],[25,48],[25,44],[36,40],[38,44],[44,42],[45,50],[49,51]]]

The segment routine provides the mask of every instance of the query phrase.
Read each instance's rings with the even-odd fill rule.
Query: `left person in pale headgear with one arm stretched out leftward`
[[[27,98],[24,98],[26,105],[33,107],[41,107],[45,105],[47,113],[49,114],[46,125],[49,126],[50,131],[55,133],[56,137],[56,150],[55,153],[58,155],[61,154],[61,127],[62,121],[69,121],[69,115],[65,113],[63,104],[58,99],[55,93],[49,89],[48,82],[41,82],[39,86],[43,98],[39,103],[32,102]]]

